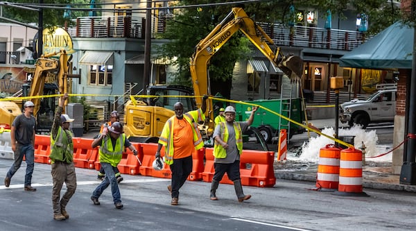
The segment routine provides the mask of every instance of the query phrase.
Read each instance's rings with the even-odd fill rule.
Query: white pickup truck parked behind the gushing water
[[[339,119],[366,128],[369,123],[393,122],[396,114],[397,85],[377,85],[378,92],[365,100],[353,99],[340,105]]]

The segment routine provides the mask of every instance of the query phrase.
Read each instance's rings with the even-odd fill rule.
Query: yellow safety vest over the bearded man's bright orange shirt
[[[173,148],[173,119],[175,117],[176,116],[173,116],[166,121],[167,124],[165,124],[162,134],[159,137],[159,144],[165,146],[165,162],[169,165],[173,164],[173,152],[175,150],[175,148]],[[204,142],[196,121],[204,121],[205,114],[202,113],[201,109],[198,109],[184,113],[184,119],[192,125],[193,146],[197,150],[202,148],[204,146]]]

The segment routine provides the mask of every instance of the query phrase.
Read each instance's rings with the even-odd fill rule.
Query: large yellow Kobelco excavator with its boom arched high
[[[202,96],[211,95],[209,87],[208,62],[211,57],[236,33],[242,31],[254,46],[279,67],[291,79],[300,79],[302,76],[303,61],[297,56],[285,56],[272,39],[248,17],[243,8],[232,8],[227,17],[218,24],[207,37],[201,40],[191,57],[191,78],[193,89],[179,88],[179,86],[150,86],[148,94],[160,96]],[[273,48],[273,49],[272,49]],[[159,89],[155,90],[155,87]],[[193,92],[193,93],[192,93]],[[177,101],[184,103],[184,109],[194,110],[202,105],[202,98],[196,97],[196,104],[190,98],[156,97],[148,101],[129,101],[125,105],[125,133],[133,142],[157,142],[166,120],[174,115],[173,104]],[[200,125],[202,137],[209,140],[214,131],[214,108],[209,101],[206,112],[207,121]],[[211,143],[212,144],[212,143]]]

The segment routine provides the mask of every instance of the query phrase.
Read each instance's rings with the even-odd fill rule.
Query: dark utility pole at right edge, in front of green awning
[[[416,10],[416,1],[412,1],[412,5],[410,6],[411,15],[414,15]],[[412,18],[415,20],[415,17]],[[413,62],[412,62],[412,74],[410,76],[410,92],[406,96],[406,105],[409,105],[406,110],[406,121],[408,121],[408,131],[404,131],[405,134],[407,133],[407,145],[405,146],[404,153],[403,153],[403,165],[401,166],[400,171],[400,184],[404,185],[416,185],[416,29],[413,26]]]

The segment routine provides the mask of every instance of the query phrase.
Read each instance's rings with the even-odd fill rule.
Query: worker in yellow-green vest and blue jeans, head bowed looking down
[[[96,146],[100,146],[99,161],[105,171],[105,179],[93,191],[91,200],[94,205],[100,205],[98,198],[101,194],[103,194],[103,191],[111,185],[114,206],[116,209],[122,209],[123,204],[121,203],[119,184],[117,183],[114,170],[123,157],[124,147],[128,147],[134,155],[137,155],[137,150],[135,146],[132,146],[132,144],[128,141],[127,137],[125,137],[125,134],[123,133],[123,126],[120,122],[112,123],[112,125],[108,128],[108,133],[104,130],[100,137],[94,139],[94,142],[92,142],[92,148],[95,148]]]

